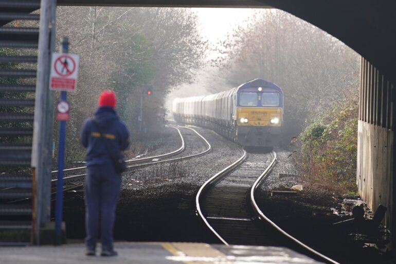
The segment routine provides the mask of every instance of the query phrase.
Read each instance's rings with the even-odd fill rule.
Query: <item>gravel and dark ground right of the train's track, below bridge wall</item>
[[[377,243],[383,247],[384,240],[379,235],[359,234],[353,222],[333,225],[351,219],[353,206],[346,201],[361,204],[359,197],[339,195],[304,183],[289,160],[292,153],[276,152],[278,163],[256,195],[260,209],[268,218],[287,233],[340,263],[392,263],[390,254],[369,246]],[[303,186],[296,194],[271,193],[272,190],[292,190],[290,188],[296,184]],[[367,207],[365,209],[366,218],[369,218],[370,213]]]

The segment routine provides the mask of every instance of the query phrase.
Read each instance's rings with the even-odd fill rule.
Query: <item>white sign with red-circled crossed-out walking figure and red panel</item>
[[[76,91],[79,57],[76,54],[53,53],[49,89]]]

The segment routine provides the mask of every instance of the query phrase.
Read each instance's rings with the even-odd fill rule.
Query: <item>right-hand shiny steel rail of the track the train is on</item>
[[[250,189],[250,203],[253,206],[256,214],[258,214],[259,219],[260,220],[264,220],[266,222],[268,222],[269,224],[271,224],[273,227],[275,227],[276,230],[278,230],[281,234],[283,234],[284,236],[286,236],[287,238],[293,240],[294,242],[296,242],[298,245],[300,245],[301,247],[303,247],[305,250],[308,250],[309,252],[315,254],[316,256],[328,261],[329,263],[333,263],[333,264],[339,264],[337,261],[317,252],[316,250],[310,248],[308,245],[302,243],[300,240],[296,239],[295,237],[291,236],[290,234],[286,233],[284,230],[282,230],[282,228],[280,228],[277,224],[275,224],[273,221],[271,221],[268,217],[266,217],[264,215],[264,213],[260,210],[259,206],[256,203],[255,200],[255,190],[261,185],[261,183],[268,177],[269,172],[271,171],[272,167],[274,166],[275,162],[276,162],[276,153],[275,151],[272,152],[272,155],[274,157],[273,161],[271,162],[271,164],[269,164],[269,166],[264,170],[264,172],[260,175],[259,178],[257,178],[256,182],[251,186]]]

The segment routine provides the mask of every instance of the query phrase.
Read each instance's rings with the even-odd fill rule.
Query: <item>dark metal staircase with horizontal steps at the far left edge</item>
[[[0,245],[32,243],[40,0],[0,0]],[[28,199],[26,199],[28,198]]]

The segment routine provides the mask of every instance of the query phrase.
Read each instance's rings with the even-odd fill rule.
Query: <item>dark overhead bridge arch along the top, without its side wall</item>
[[[396,2],[392,0],[58,0],[65,6],[278,8],[327,31],[396,82]]]

